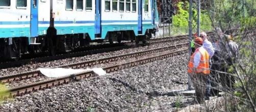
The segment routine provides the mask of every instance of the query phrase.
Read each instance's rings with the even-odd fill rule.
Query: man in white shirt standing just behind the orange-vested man
[[[202,41],[203,41],[203,48],[207,50],[207,52],[209,53],[209,56],[210,56],[210,60],[209,60],[209,69],[211,70],[211,66],[212,66],[212,63],[211,63],[211,58],[213,57],[214,55],[214,48],[213,48],[213,45],[212,45],[212,42],[210,42],[207,38],[207,34],[205,32],[201,32],[200,33],[200,37],[202,38]],[[211,96],[211,83],[213,84],[212,86],[215,86],[214,83],[215,83],[215,74],[212,73],[212,71],[210,72],[210,75],[208,76],[208,79],[207,79],[207,88],[206,88],[206,99],[208,100],[209,97]]]

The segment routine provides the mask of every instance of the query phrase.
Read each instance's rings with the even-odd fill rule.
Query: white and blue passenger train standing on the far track
[[[90,42],[139,43],[156,34],[156,0],[1,0],[0,58],[67,52]]]

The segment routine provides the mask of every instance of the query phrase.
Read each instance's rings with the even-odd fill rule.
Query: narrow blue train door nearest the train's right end
[[[142,0],[138,0],[138,34],[142,34]]]

